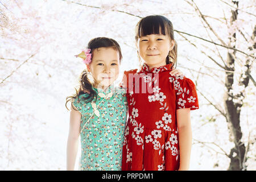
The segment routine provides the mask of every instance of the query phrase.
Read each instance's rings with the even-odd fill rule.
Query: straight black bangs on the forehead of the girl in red
[[[147,16],[142,19],[138,26],[138,36],[141,37],[151,34],[166,35],[166,28],[164,26],[166,20],[164,20],[164,18],[164,16]]]

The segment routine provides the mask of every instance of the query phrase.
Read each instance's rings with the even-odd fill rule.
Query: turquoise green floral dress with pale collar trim
[[[80,111],[80,170],[121,170],[123,134],[126,125],[125,90],[110,86],[96,89],[97,100],[86,103],[81,94],[73,105]],[[89,120],[88,120],[89,119]]]

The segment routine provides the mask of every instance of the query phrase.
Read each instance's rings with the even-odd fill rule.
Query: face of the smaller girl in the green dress
[[[94,49],[93,59],[86,65],[94,78],[94,87],[108,88],[119,75],[119,53],[112,47]]]

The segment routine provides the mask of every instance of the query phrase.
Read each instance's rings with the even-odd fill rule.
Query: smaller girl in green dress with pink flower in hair
[[[95,38],[76,57],[84,60],[86,69],[80,76],[79,91],[67,97],[72,102],[67,169],[74,169],[80,135],[80,170],[121,170],[127,101],[125,90],[114,86],[121,49],[113,39]]]

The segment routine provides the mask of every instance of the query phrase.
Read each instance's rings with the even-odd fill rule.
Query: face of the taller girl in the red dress
[[[174,48],[174,40],[170,40],[168,35],[151,34],[140,37],[137,47],[139,56],[151,69],[166,65],[166,57]]]

